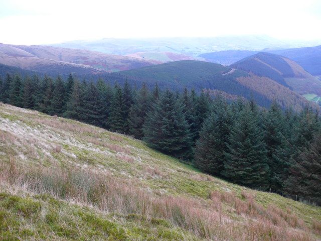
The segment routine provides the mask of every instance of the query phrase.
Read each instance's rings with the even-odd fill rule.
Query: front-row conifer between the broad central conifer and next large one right
[[[216,101],[215,111],[205,119],[196,145],[195,162],[200,170],[215,175],[221,173],[232,126],[232,113],[227,102],[220,98]]]

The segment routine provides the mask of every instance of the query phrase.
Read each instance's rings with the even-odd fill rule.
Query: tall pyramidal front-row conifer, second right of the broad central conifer
[[[251,187],[267,187],[269,166],[263,133],[249,105],[243,107],[231,130],[222,175]]]

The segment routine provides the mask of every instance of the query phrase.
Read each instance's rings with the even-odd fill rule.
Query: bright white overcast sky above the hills
[[[321,39],[320,0],[0,0],[0,43],[268,35]]]

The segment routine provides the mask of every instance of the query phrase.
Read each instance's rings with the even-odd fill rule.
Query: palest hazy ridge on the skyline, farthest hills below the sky
[[[283,41],[266,35],[221,36],[213,38],[140,38],[79,40],[52,46],[85,49],[107,54],[127,55],[138,52],[172,52],[188,56],[225,50],[262,50],[265,48],[296,48],[320,44],[315,42]]]

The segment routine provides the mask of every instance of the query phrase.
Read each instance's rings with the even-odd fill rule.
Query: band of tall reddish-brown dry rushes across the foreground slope
[[[163,175],[147,168],[152,175]],[[94,206],[105,212],[136,213],[146,218],[165,218],[202,238],[212,240],[313,240],[297,218],[275,207],[264,209],[249,193],[243,201],[232,192],[211,193],[211,199],[183,196],[156,196],[136,188],[128,179],[108,173],[73,168],[44,167],[33,170],[17,166],[14,158],[0,163],[0,183],[33,193],[49,193],[56,198]],[[241,215],[235,221],[226,215],[222,205],[232,204]],[[291,229],[289,228],[291,227]],[[319,224],[313,227],[319,230]]]

